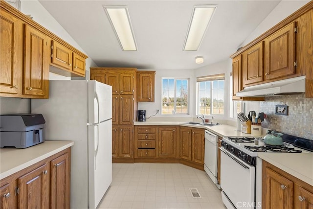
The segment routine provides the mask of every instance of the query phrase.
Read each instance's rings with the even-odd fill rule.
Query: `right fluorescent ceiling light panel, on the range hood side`
[[[184,51],[197,51],[217,5],[196,5],[193,9]]]

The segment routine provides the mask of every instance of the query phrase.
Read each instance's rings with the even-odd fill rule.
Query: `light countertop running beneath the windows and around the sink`
[[[193,128],[203,128],[208,131],[211,131],[212,133],[219,135],[221,137],[255,137],[251,134],[245,134],[241,131],[236,131],[235,126],[231,125],[215,125],[215,126],[204,126],[204,125],[192,125],[192,124],[186,124],[185,122],[175,122],[175,121],[155,121],[155,122],[134,122],[134,125],[180,125],[180,126],[188,126]],[[265,131],[263,136],[265,136]],[[258,136],[258,137],[263,137]]]

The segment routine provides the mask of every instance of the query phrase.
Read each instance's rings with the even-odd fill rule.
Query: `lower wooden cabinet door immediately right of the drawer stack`
[[[158,129],[158,157],[176,158],[176,127]]]

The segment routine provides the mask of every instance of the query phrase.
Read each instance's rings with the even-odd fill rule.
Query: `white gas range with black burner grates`
[[[287,140],[289,143],[284,140],[283,146],[265,146],[256,145],[254,138],[223,138],[220,147],[221,188],[227,209],[261,209],[262,160],[258,153],[301,153],[304,150],[292,144],[292,141],[296,144],[294,141],[297,139]]]

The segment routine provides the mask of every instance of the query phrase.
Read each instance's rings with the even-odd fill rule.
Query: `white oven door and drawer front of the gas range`
[[[253,209],[255,167],[221,149],[222,199],[227,209]]]

